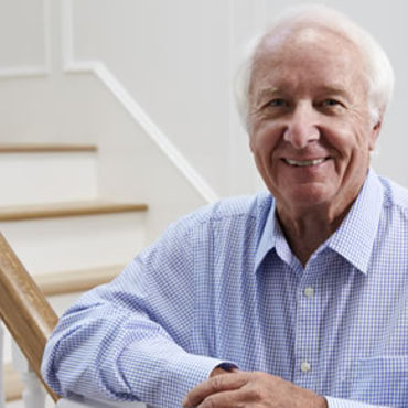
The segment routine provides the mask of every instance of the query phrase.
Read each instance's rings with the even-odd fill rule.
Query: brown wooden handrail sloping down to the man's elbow
[[[41,375],[45,343],[58,320],[44,294],[0,233],[0,316],[54,401]]]

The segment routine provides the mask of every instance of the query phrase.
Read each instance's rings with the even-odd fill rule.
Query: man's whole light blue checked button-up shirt
[[[180,407],[223,362],[326,396],[408,407],[408,192],[368,173],[305,268],[268,193],[173,224],[77,301],[44,354],[58,394]]]

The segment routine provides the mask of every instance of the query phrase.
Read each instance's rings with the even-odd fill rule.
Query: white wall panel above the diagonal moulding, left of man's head
[[[218,195],[247,192],[255,178],[230,88],[257,12],[241,0],[72,1],[72,58],[103,61]]]

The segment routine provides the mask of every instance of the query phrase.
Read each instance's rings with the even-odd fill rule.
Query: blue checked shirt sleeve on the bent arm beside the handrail
[[[181,406],[226,363],[194,353],[194,260],[187,228],[171,227],[111,283],[85,293],[46,345],[42,372],[62,396]]]

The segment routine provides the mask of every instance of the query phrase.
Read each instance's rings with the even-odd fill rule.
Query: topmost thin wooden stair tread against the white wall
[[[95,144],[0,143],[0,153],[96,152]]]

